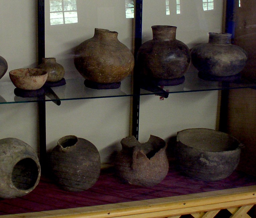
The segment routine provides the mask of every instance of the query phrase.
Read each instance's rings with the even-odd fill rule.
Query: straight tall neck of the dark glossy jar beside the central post
[[[177,26],[155,25],[152,26],[153,39],[163,41],[176,40]]]

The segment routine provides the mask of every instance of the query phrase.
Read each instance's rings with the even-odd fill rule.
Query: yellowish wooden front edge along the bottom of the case
[[[92,207],[43,211],[25,214],[4,215],[10,217],[61,217],[61,218],[105,218],[105,217],[170,217],[210,210],[241,207],[256,204],[256,185],[174,196],[168,198],[133,201]]]

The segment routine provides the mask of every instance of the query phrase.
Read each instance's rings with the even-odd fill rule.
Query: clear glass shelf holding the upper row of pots
[[[95,90],[85,87],[84,78],[67,79],[66,85],[46,89],[45,98],[33,97],[23,98],[14,94],[14,85],[11,82],[0,82],[0,104],[26,103],[38,101],[53,101],[60,104],[64,100],[92,99],[92,98],[113,98],[132,96],[131,76],[125,78],[119,89]],[[178,86],[150,87],[151,91],[140,89],[140,95],[160,95],[168,97],[170,93],[199,92],[224,89],[256,88],[256,84],[247,80],[241,83],[227,83],[205,81],[198,77],[197,72],[187,72],[185,82]]]

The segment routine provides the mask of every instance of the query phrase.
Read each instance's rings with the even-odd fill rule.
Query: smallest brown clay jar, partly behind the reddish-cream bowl
[[[65,74],[64,67],[56,62],[56,58],[42,58],[42,63],[38,65],[38,68],[48,73],[47,82],[57,82]]]

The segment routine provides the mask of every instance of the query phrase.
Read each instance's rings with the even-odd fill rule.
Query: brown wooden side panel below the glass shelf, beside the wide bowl
[[[256,175],[256,90],[230,90],[227,130],[244,144],[238,169]]]

